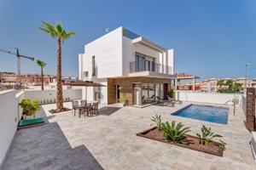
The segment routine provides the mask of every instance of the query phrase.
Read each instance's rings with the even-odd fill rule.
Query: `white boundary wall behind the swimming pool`
[[[191,102],[202,102],[209,104],[219,104],[219,105],[233,105],[231,102],[235,97],[239,99],[239,105],[244,109],[246,107],[245,99],[243,94],[208,94],[208,93],[194,93],[194,92],[186,92],[186,91],[176,91],[175,97],[176,99],[183,101],[191,101]],[[229,102],[228,102],[229,101]],[[228,102],[228,103],[227,103]]]

